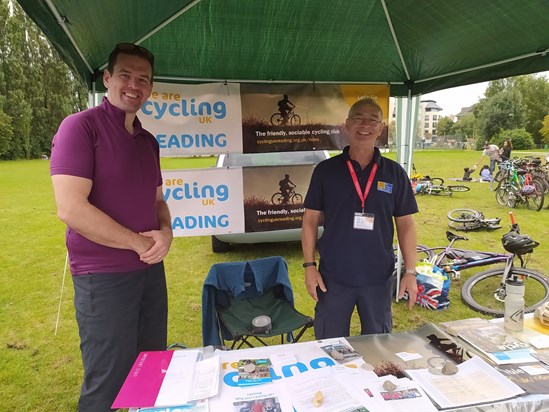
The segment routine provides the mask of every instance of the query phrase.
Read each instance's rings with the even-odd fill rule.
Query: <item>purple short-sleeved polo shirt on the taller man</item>
[[[158,229],[156,190],[162,185],[156,139],[136,118],[134,133],[124,127],[125,113],[105,97],[101,105],[68,116],[53,138],[50,174],[93,182],[88,200],[122,226],[144,232]],[[73,275],[129,272],[147,267],[132,250],[66,233]]]

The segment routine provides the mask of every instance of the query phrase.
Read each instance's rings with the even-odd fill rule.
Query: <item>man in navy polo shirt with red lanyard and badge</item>
[[[382,119],[374,100],[353,104],[345,122],[349,146],[316,166],[311,177],[301,243],[305,284],[316,301],[316,339],[349,336],[355,306],[361,334],[391,332],[394,226],[406,268],[398,295],[402,298],[408,292],[409,309],[416,301],[412,215],[418,207],[404,169],[375,147]],[[317,269],[315,249],[322,217]]]

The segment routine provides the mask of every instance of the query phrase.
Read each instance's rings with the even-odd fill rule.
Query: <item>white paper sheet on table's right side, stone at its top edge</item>
[[[479,357],[457,366],[455,375],[435,375],[428,369],[406,370],[441,408],[497,402],[525,392]]]

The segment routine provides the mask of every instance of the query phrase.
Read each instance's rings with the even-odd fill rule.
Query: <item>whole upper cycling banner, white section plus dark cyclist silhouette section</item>
[[[155,82],[139,119],[165,157],[342,149],[349,107],[363,97],[383,110],[385,146],[388,85]]]

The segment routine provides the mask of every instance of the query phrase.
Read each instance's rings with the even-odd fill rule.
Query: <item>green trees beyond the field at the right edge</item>
[[[457,122],[440,119],[437,135],[453,135],[462,142],[475,138],[477,149],[486,141],[499,146],[505,139],[515,149],[543,147],[549,144],[549,81],[533,74],[493,80]]]

